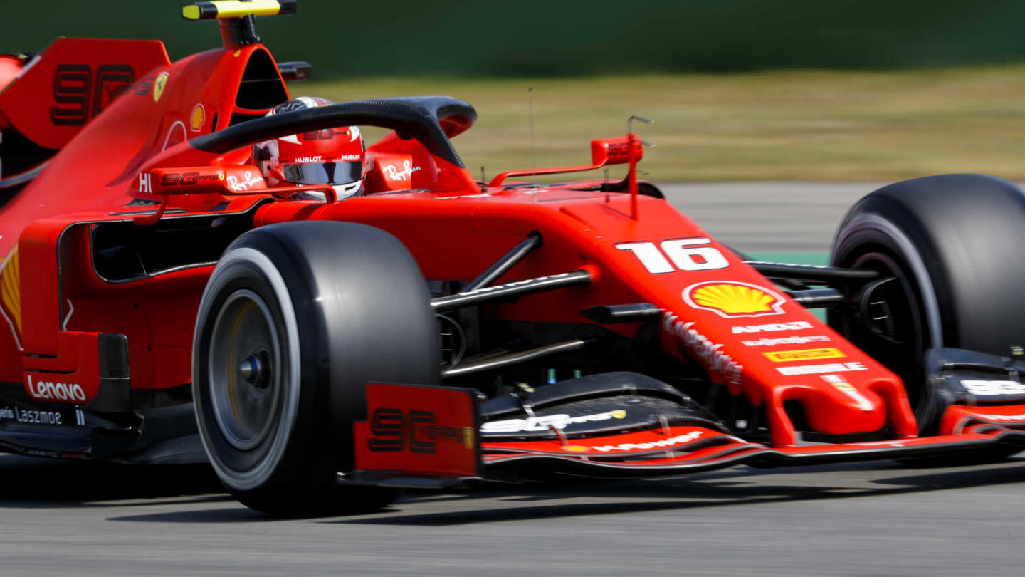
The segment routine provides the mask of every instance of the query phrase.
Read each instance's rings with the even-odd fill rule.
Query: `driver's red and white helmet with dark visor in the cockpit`
[[[268,116],[327,106],[331,101],[300,97]],[[253,145],[253,160],[269,186],[330,185],[338,200],[363,194],[366,145],[357,126],[289,134]]]

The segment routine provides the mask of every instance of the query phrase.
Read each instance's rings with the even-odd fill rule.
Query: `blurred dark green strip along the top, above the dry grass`
[[[52,37],[161,38],[209,46],[178,0],[0,0],[0,51]],[[1025,56],[1021,0],[300,0],[260,18],[282,59],[350,74],[489,76],[894,68]]]

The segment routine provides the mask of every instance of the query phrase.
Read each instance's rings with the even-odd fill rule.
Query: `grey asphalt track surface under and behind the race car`
[[[746,252],[828,249],[872,185],[686,185],[670,200]],[[4,575],[1020,574],[1025,459],[760,470],[418,493],[384,512],[270,521],[205,466],[0,456]]]

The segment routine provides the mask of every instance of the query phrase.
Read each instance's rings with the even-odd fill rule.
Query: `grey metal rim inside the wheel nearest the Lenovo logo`
[[[284,393],[281,346],[271,311],[252,291],[233,293],[210,335],[210,401],[232,447],[249,451],[274,430]]]

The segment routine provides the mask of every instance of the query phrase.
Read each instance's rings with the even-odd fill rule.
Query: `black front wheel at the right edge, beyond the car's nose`
[[[1022,255],[1025,196],[993,177],[893,184],[858,201],[840,224],[831,264],[894,280],[880,284],[864,310],[831,311],[829,322],[904,380],[921,433],[935,433],[941,417],[925,386],[927,349],[1006,355],[1025,344]],[[998,453],[1012,449],[1019,451]]]

